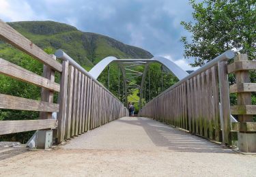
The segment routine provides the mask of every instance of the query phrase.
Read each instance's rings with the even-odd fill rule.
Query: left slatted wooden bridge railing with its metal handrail
[[[61,97],[60,102],[66,106],[63,110],[60,107],[60,112],[66,112],[66,116],[58,116],[58,142],[129,115],[124,104],[68,54],[58,50],[55,55],[68,66],[68,73],[61,78],[61,88],[67,88],[67,93]]]

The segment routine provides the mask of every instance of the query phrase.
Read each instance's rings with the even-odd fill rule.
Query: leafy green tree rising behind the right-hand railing
[[[204,0],[192,5],[195,22],[181,22],[191,33],[183,36],[184,57],[195,58],[192,66],[201,66],[232,49],[255,59],[256,0]]]

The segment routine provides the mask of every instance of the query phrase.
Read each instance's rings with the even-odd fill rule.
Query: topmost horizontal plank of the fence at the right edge
[[[229,74],[242,70],[255,70],[256,61],[234,61],[227,68]]]

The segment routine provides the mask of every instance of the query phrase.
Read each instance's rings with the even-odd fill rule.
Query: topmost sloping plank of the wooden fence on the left
[[[33,42],[29,41],[29,39],[18,33],[18,31],[14,30],[2,20],[0,20],[0,38],[26,54],[29,54],[31,57],[38,59],[38,61],[41,61],[45,65],[52,67],[56,71],[62,71],[60,63],[55,61],[49,54],[46,54],[44,50],[33,44]]]

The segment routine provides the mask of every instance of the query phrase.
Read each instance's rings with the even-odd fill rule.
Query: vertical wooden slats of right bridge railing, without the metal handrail
[[[227,77],[227,73],[223,74]],[[223,82],[221,87],[220,82]],[[221,142],[223,138],[220,135],[219,88],[223,89],[223,94],[225,91],[225,97],[227,97],[227,80],[218,79],[218,66],[215,65],[197,76],[171,86],[165,93],[147,103],[140,110],[139,116],[154,118],[187,129],[191,133],[197,133],[210,140]],[[229,103],[228,100],[223,105],[227,106],[227,103]],[[228,111],[229,108],[225,111],[225,118],[227,118]],[[228,121],[229,119],[225,120],[225,123],[227,124]],[[230,127],[225,129],[227,135],[229,135],[229,130]]]

